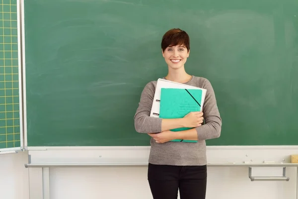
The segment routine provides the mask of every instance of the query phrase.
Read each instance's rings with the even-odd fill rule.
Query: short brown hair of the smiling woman
[[[184,45],[187,51],[190,49],[188,34],[179,28],[168,30],[162,37],[161,49],[162,52],[169,46]]]

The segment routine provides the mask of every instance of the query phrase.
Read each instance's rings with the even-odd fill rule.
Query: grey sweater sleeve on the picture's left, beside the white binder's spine
[[[135,129],[139,133],[159,133],[161,132],[161,118],[150,117],[150,111],[155,94],[155,87],[152,82],[149,82],[142,94],[134,116]]]

